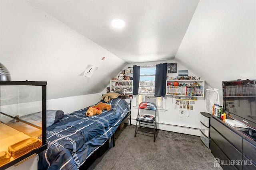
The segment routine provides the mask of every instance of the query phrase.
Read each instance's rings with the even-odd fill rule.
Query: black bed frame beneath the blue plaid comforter
[[[130,125],[131,125],[131,115],[132,115],[132,100],[130,100],[130,102],[127,102],[128,104],[130,104],[130,109],[131,111],[129,111],[127,113],[127,115],[124,117],[124,119],[122,119],[121,123],[124,122],[124,120],[127,117],[130,117]],[[120,123],[120,124],[121,124]],[[115,138],[115,133],[112,135],[111,139],[113,140],[113,147],[115,147],[115,143],[116,143],[116,138]],[[98,150],[96,150],[93,154],[91,154],[86,161],[79,167],[79,170],[87,170],[92,164],[93,162],[97,159],[100,158],[108,149],[109,149],[109,142],[110,140],[107,140]]]

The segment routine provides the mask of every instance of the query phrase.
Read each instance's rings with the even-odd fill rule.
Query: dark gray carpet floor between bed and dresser
[[[153,137],[134,137],[134,132],[135,125],[117,130],[115,147],[108,149],[89,170],[222,169],[213,167],[214,156],[198,136],[158,130],[153,142]]]

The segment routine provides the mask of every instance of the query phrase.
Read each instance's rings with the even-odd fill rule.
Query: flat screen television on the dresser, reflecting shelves
[[[256,130],[256,80],[223,81],[222,86],[226,113]]]

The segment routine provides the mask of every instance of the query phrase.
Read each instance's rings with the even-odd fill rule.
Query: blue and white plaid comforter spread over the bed
[[[102,101],[104,102],[104,101]],[[48,149],[40,152],[38,170],[75,170],[114,134],[130,107],[117,98],[112,109],[87,117],[88,107],[66,114],[47,128]]]

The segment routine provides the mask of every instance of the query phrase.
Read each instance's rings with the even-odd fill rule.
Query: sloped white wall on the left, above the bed
[[[0,63],[12,80],[47,81],[47,99],[99,93],[126,65],[25,0],[0,0]],[[89,79],[81,74],[90,64],[98,69]]]

